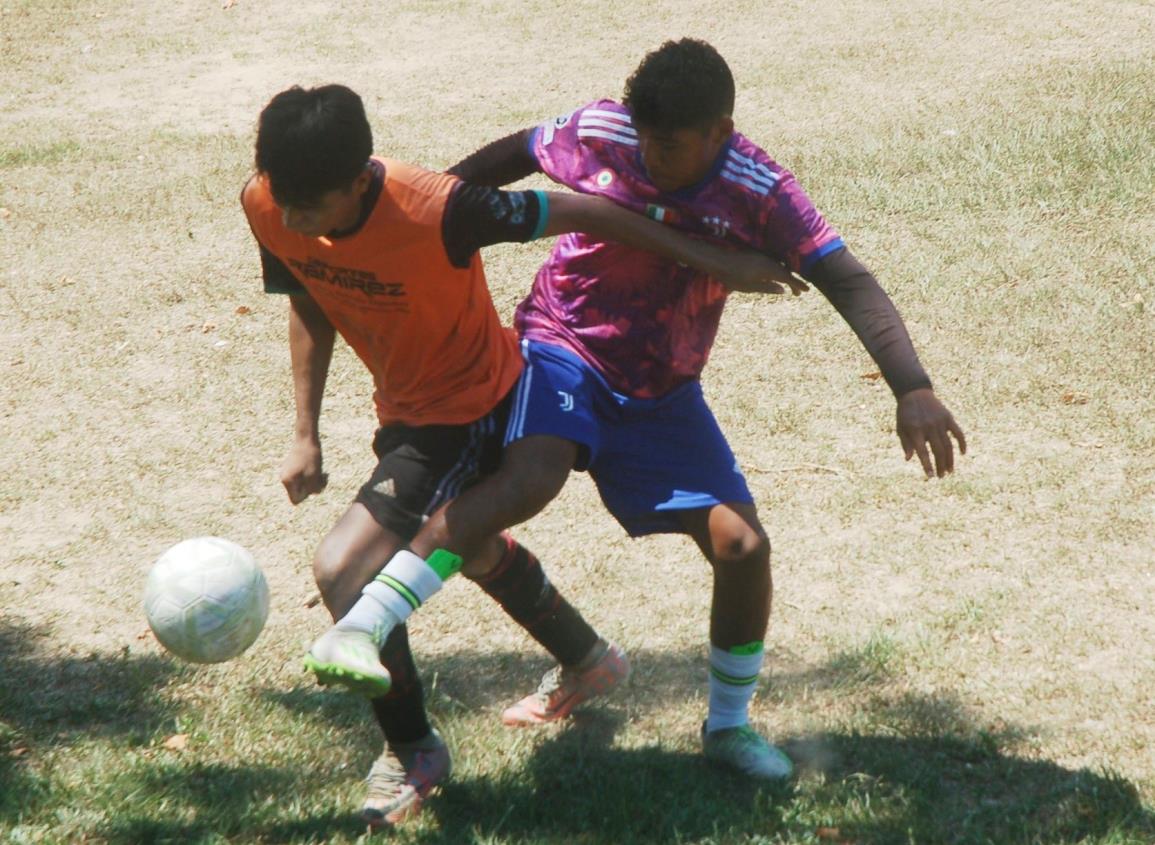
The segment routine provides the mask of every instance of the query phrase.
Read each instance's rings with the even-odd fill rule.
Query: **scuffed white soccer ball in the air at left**
[[[144,615],[161,644],[191,663],[222,663],[252,645],[269,615],[269,586],[247,551],[219,537],[184,540],[157,559]]]

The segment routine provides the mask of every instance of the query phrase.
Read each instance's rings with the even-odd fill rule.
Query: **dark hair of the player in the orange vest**
[[[280,205],[311,205],[345,189],[373,152],[365,106],[344,85],[297,85],[269,100],[256,128],[256,170]]]

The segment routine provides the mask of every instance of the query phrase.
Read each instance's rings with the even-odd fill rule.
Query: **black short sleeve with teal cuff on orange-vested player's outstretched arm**
[[[549,205],[538,190],[500,190],[457,182],[441,218],[441,241],[454,267],[469,267],[491,244],[523,244],[541,237]]]

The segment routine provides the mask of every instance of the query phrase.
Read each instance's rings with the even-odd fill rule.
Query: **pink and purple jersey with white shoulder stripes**
[[[735,133],[701,184],[658,190],[625,106],[599,100],[534,132],[542,171],[691,235],[760,249],[805,271],[842,246],[793,175]],[[558,239],[515,317],[523,337],[569,350],[618,392],[662,396],[694,380],[726,289],[705,272],[580,233]]]

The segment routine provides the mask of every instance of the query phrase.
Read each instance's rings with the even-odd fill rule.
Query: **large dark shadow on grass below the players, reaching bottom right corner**
[[[828,733],[787,743],[807,771],[759,786],[698,754],[613,748],[569,730],[520,768],[457,778],[430,803],[456,843],[1150,843],[1131,784],[954,738]],[[813,765],[820,748],[822,764]]]

